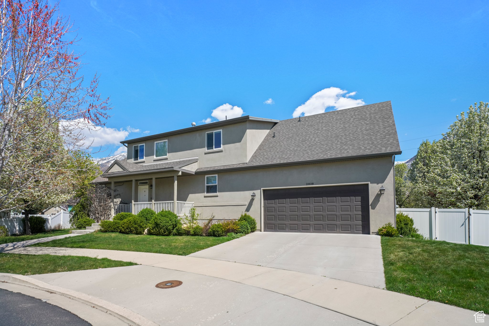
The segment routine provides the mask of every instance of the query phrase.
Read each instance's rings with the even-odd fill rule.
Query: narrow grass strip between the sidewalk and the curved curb
[[[128,261],[80,256],[0,254],[0,273],[35,275],[137,265]]]

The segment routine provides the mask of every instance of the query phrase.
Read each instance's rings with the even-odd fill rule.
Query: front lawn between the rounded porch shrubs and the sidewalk
[[[95,232],[83,236],[37,243],[33,246],[141,251],[186,256],[229,240],[232,240],[232,238],[162,237]]]

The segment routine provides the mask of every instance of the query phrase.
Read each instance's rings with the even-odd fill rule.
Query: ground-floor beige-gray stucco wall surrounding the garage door
[[[261,229],[262,188],[298,187],[311,182],[316,186],[369,183],[370,229],[371,233],[376,233],[383,224],[394,223],[393,178],[392,156],[218,173],[218,196],[204,194],[205,174],[179,176],[177,200],[194,202],[202,219],[211,215],[216,219],[238,218],[241,213],[249,212]],[[125,184],[128,194],[121,196],[130,198],[131,181]],[[381,186],[385,188],[384,195],[379,194]],[[255,199],[251,199],[253,192]],[[173,200],[173,177],[156,179],[155,201],[167,200]]]

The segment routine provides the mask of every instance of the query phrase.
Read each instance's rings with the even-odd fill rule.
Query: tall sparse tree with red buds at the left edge
[[[0,0],[0,211],[49,202],[51,180],[73,188],[92,169],[73,165],[73,153],[88,154],[81,130],[103,125],[110,107],[98,76],[81,75],[76,39],[57,3]],[[56,151],[45,145],[53,137],[63,140]]]

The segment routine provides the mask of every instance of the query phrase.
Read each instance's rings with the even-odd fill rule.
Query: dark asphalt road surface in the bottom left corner
[[[56,305],[0,289],[0,326],[90,326]]]

